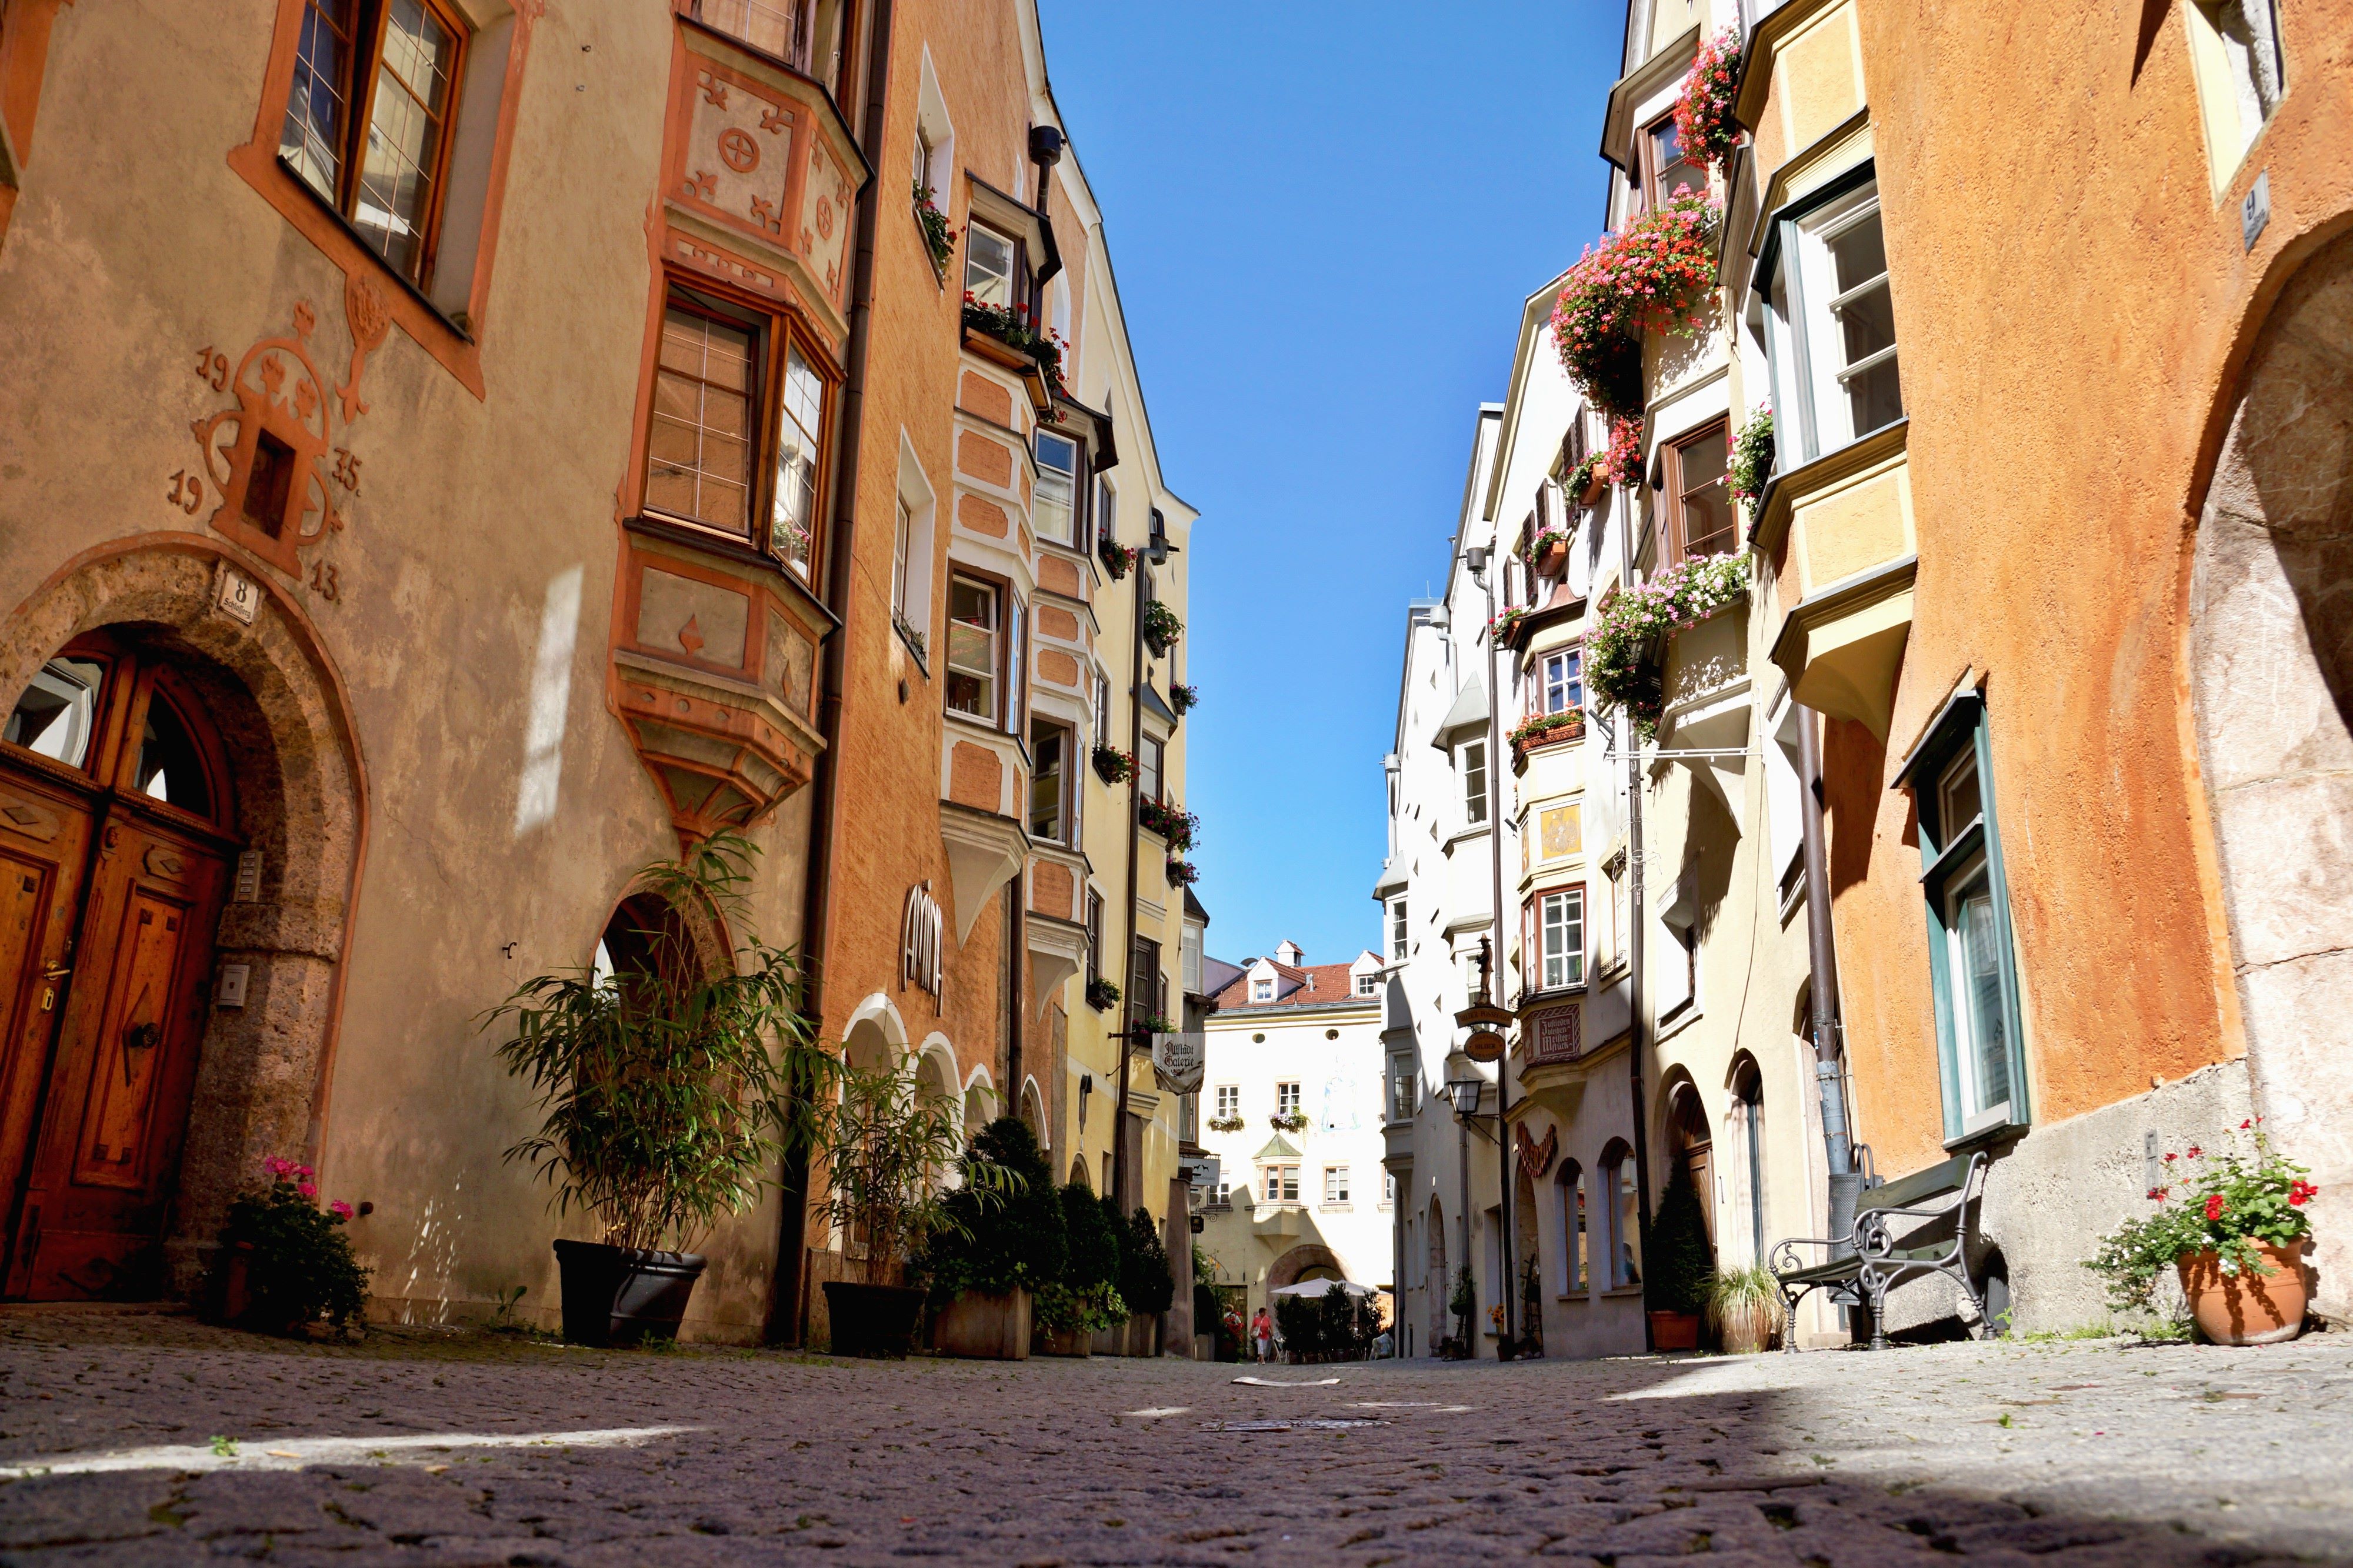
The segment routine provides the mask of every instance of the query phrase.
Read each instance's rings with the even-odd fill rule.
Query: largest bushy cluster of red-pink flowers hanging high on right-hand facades
[[[1722,207],[1678,195],[1586,247],[1553,304],[1553,346],[1586,400],[1642,412],[1642,334],[1694,337],[1715,294]]]

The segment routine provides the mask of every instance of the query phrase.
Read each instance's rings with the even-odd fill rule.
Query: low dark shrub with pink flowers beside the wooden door
[[[351,1205],[320,1208],[308,1165],[273,1156],[261,1172],[268,1184],[228,1205],[205,1276],[207,1316],[271,1335],[301,1335],[325,1321],[346,1335],[367,1311],[367,1269],[344,1234]]]

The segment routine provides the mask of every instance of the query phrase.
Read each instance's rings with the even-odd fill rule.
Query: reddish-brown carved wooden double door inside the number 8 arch
[[[0,918],[26,932],[0,935],[0,963],[14,956],[0,968],[0,1295],[139,1300],[162,1290],[233,852],[216,822],[233,817],[195,692],[134,645],[75,650],[104,671],[87,744],[64,758],[0,746],[0,796],[54,817],[47,838],[0,833],[14,878]],[[0,822],[14,822],[5,800]]]

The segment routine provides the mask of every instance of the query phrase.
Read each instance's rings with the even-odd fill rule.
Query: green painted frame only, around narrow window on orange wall
[[[1937,819],[1934,779],[1962,746],[1977,753],[1977,798],[1981,810],[1977,826],[1962,824],[1960,831],[1948,836],[1946,824]],[[1944,1088],[1944,1142],[1948,1149],[1979,1144],[2033,1123],[2026,1083],[2024,1008],[2019,1003],[2019,949],[2009,923],[2009,873],[2002,866],[2002,824],[1993,805],[1993,735],[1986,725],[1986,699],[1979,692],[1962,692],[1946,704],[1944,713],[1937,716],[1937,723],[1897,775],[1897,789],[1911,789],[1920,817],[1920,895],[1927,916],[1929,991],[1937,1005],[1937,1076]],[[1953,869],[1969,859],[1962,841],[1974,841],[1979,833],[1984,836],[1986,890],[1993,895],[1993,932],[2002,961],[2002,1022],[2009,1038],[2009,1121],[1965,1132],[1960,1041],[1953,1022],[1953,946],[1951,925],[1944,916],[1944,888]]]

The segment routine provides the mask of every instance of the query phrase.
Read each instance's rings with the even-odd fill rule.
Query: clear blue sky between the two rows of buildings
[[[1209,951],[1377,946],[1405,603],[1520,301],[1602,221],[1602,0],[1040,0],[1167,485],[1200,509]]]

